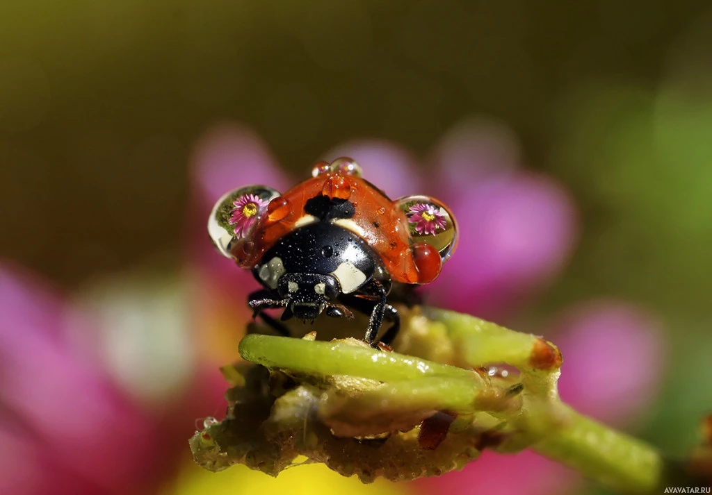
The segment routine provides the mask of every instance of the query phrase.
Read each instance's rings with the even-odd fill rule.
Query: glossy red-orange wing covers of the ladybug
[[[394,282],[427,284],[439,275],[439,252],[427,243],[413,243],[404,211],[372,183],[342,171],[328,171],[274,198],[250,235],[231,245],[241,267],[251,268],[284,235],[313,221],[304,206],[315,196],[348,199],[355,215],[331,220],[364,239],[381,257]]]

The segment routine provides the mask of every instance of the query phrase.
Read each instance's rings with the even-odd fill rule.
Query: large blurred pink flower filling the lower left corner
[[[73,345],[70,311],[0,265],[0,493],[122,494],[152,476],[153,423]]]

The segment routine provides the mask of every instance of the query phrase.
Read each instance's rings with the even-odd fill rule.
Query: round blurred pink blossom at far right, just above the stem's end
[[[611,425],[639,419],[665,368],[660,322],[644,309],[597,301],[568,309],[552,327],[565,357],[561,397]]]

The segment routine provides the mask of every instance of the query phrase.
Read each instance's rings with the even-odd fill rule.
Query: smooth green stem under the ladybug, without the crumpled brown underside
[[[422,309],[407,317],[400,353],[375,351],[345,341],[308,341],[248,335],[240,344],[246,361],[270,369],[315,376],[352,376],[383,386],[361,393],[352,407],[373,408],[396,398],[399,408],[496,417],[515,432],[496,446],[501,452],[529,447],[601,484],[630,493],[650,493],[664,483],[661,454],[622,432],[580,415],[557,393],[562,358],[539,337],[454,312]],[[414,357],[418,356],[418,357]],[[432,361],[426,361],[430,359]],[[439,361],[439,362],[435,362]],[[518,368],[522,392],[514,403],[501,400],[483,373],[487,363]],[[493,392],[494,390],[494,392]]]

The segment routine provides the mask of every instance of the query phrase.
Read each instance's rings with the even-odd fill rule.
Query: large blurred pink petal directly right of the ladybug
[[[473,183],[464,196],[439,194],[458,220],[460,241],[434,282],[433,304],[501,321],[565,266],[575,211],[553,179],[521,171]]]

